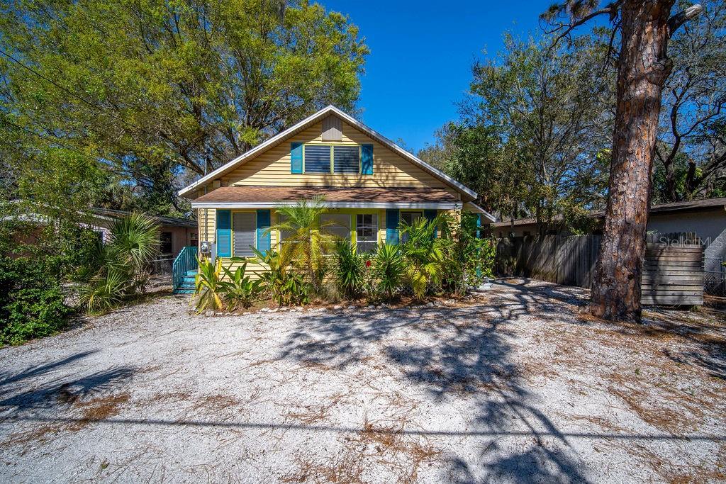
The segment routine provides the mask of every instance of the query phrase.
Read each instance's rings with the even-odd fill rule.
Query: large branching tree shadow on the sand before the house
[[[468,430],[494,435],[517,432],[516,446],[499,437],[477,439],[474,445],[481,444],[481,451],[476,459],[464,459],[452,451],[445,457],[449,480],[585,482],[576,452],[524,387],[508,342],[510,329],[522,316],[536,310],[540,319],[555,319],[558,310],[553,300],[579,300],[576,293],[555,288],[513,295],[496,305],[483,300],[465,308],[362,310],[304,317],[280,358],[344,369],[365,364],[370,351],[377,351],[388,368],[425,390],[433,401],[470,403],[475,410],[468,416]],[[457,435],[456,430],[452,433]]]

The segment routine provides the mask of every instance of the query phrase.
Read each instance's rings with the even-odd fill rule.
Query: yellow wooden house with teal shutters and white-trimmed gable
[[[333,106],[234,158],[179,192],[198,210],[200,251],[251,257],[277,246],[275,208],[325,197],[322,222],[362,251],[399,242],[400,221],[441,212],[494,218],[477,194]],[[284,235],[283,235],[284,239]],[[284,240],[283,240],[284,241]],[[258,268],[253,264],[250,268]]]

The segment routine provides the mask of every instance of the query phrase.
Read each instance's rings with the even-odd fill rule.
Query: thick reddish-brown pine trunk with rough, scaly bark
[[[645,255],[661,91],[674,0],[626,0],[621,7],[617,108],[608,207],[595,267],[590,311],[619,321],[640,321],[640,276]]]

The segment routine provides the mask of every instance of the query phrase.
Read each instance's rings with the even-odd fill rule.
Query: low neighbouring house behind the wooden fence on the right
[[[596,234],[602,234],[605,213],[593,212],[597,219]],[[526,237],[538,234],[534,218],[492,223],[494,237]],[[709,198],[690,202],[672,202],[653,205],[648,216],[648,231],[658,234],[695,232],[706,247],[704,257],[706,271],[718,272],[720,263],[726,261],[726,198]],[[568,232],[560,232],[569,235]]]

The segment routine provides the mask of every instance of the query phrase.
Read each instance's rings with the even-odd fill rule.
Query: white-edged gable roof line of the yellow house
[[[179,190],[179,196],[184,197],[184,196],[191,194],[195,189],[198,189],[201,186],[204,186],[208,182],[211,182],[213,179],[219,178],[219,176],[224,175],[224,173],[232,171],[232,169],[237,168],[237,166],[242,165],[243,163],[246,163],[248,160],[251,160],[252,158],[254,158],[258,155],[261,155],[261,153],[265,152],[267,149],[277,146],[278,144],[282,143],[282,141],[285,141],[285,139],[289,138],[290,136],[294,136],[295,134],[300,133],[304,129],[309,128],[310,126],[314,125],[315,123],[318,123],[319,121],[321,121],[323,118],[325,118],[327,115],[330,115],[330,114],[337,115],[339,118],[341,118],[346,123],[358,128],[364,134],[367,134],[372,139],[375,139],[376,141],[378,141],[380,144],[383,144],[384,146],[388,147],[388,149],[391,149],[391,151],[395,152],[397,155],[400,155],[405,160],[408,160],[410,163],[413,163],[418,168],[423,169],[423,171],[430,173],[432,176],[436,177],[437,179],[443,181],[445,184],[456,189],[457,192],[465,194],[471,200],[476,199],[476,192],[474,192],[472,189],[460,184],[458,181],[456,181],[456,180],[452,179],[450,176],[446,175],[446,173],[444,173],[436,168],[433,168],[433,166],[431,166],[428,163],[426,163],[425,161],[421,160],[419,157],[416,157],[415,155],[412,155],[411,153],[407,152],[405,149],[399,147],[399,145],[397,145],[390,139],[386,138],[386,136],[383,136],[382,134],[378,133],[377,131],[372,130],[368,126],[365,126],[359,120],[356,120],[355,118],[351,118],[351,116],[348,116],[345,112],[339,110],[337,107],[332,106],[332,105],[324,107],[324,108],[322,108],[322,110],[319,110],[314,115],[310,115],[307,118],[301,120],[299,123],[296,123],[295,125],[290,126],[290,128],[287,128],[284,131],[280,131],[279,134],[272,136],[272,138],[268,139],[267,141],[264,141],[264,143],[258,144],[256,147],[254,147],[254,148],[248,150],[247,152],[242,153],[242,155],[234,158],[234,160],[230,161],[229,163],[222,165],[221,167],[217,168],[215,171],[208,173],[207,175],[203,176],[202,178],[195,181],[194,183],[192,183],[188,186],[185,186],[183,189]]]

